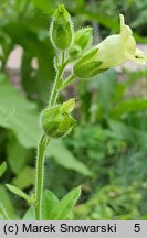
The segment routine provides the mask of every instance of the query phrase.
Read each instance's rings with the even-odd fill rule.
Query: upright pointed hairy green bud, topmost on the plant
[[[63,4],[59,6],[53,15],[50,34],[52,43],[57,50],[64,51],[71,45],[73,24]]]

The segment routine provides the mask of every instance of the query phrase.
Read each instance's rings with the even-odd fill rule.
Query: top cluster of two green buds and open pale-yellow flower
[[[53,45],[73,62],[73,74],[77,78],[90,78],[111,67],[115,67],[130,60],[145,64],[147,57],[136,48],[133,32],[124,22],[120,14],[119,34],[109,35],[98,45],[91,46],[93,29],[83,28],[74,32],[70,14],[64,6],[59,6],[51,24],[51,39]]]

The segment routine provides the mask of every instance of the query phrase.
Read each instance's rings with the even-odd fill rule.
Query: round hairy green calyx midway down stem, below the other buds
[[[43,110],[41,125],[45,134],[51,138],[60,138],[71,132],[75,120],[70,112],[75,107],[75,99],[70,99],[62,105]]]

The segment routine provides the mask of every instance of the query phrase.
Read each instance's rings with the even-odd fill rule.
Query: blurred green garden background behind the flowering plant
[[[4,184],[25,192],[34,186],[39,112],[55,76],[49,25],[59,3],[75,30],[94,28],[94,43],[118,33],[124,13],[147,53],[146,0],[0,0],[0,164],[8,164],[6,173],[0,166],[0,204],[11,219],[20,219],[28,205]],[[147,66],[134,64],[62,93],[61,101],[75,96],[78,123],[70,137],[52,141],[44,186],[61,198],[82,185],[72,219],[147,219],[146,95]]]

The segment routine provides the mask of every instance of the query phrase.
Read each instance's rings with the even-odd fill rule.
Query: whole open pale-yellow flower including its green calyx
[[[120,33],[107,36],[98,45],[91,48],[74,64],[73,72],[80,78],[93,77],[102,71],[115,67],[126,61],[145,64],[147,57],[136,48],[136,41],[120,14]]]

